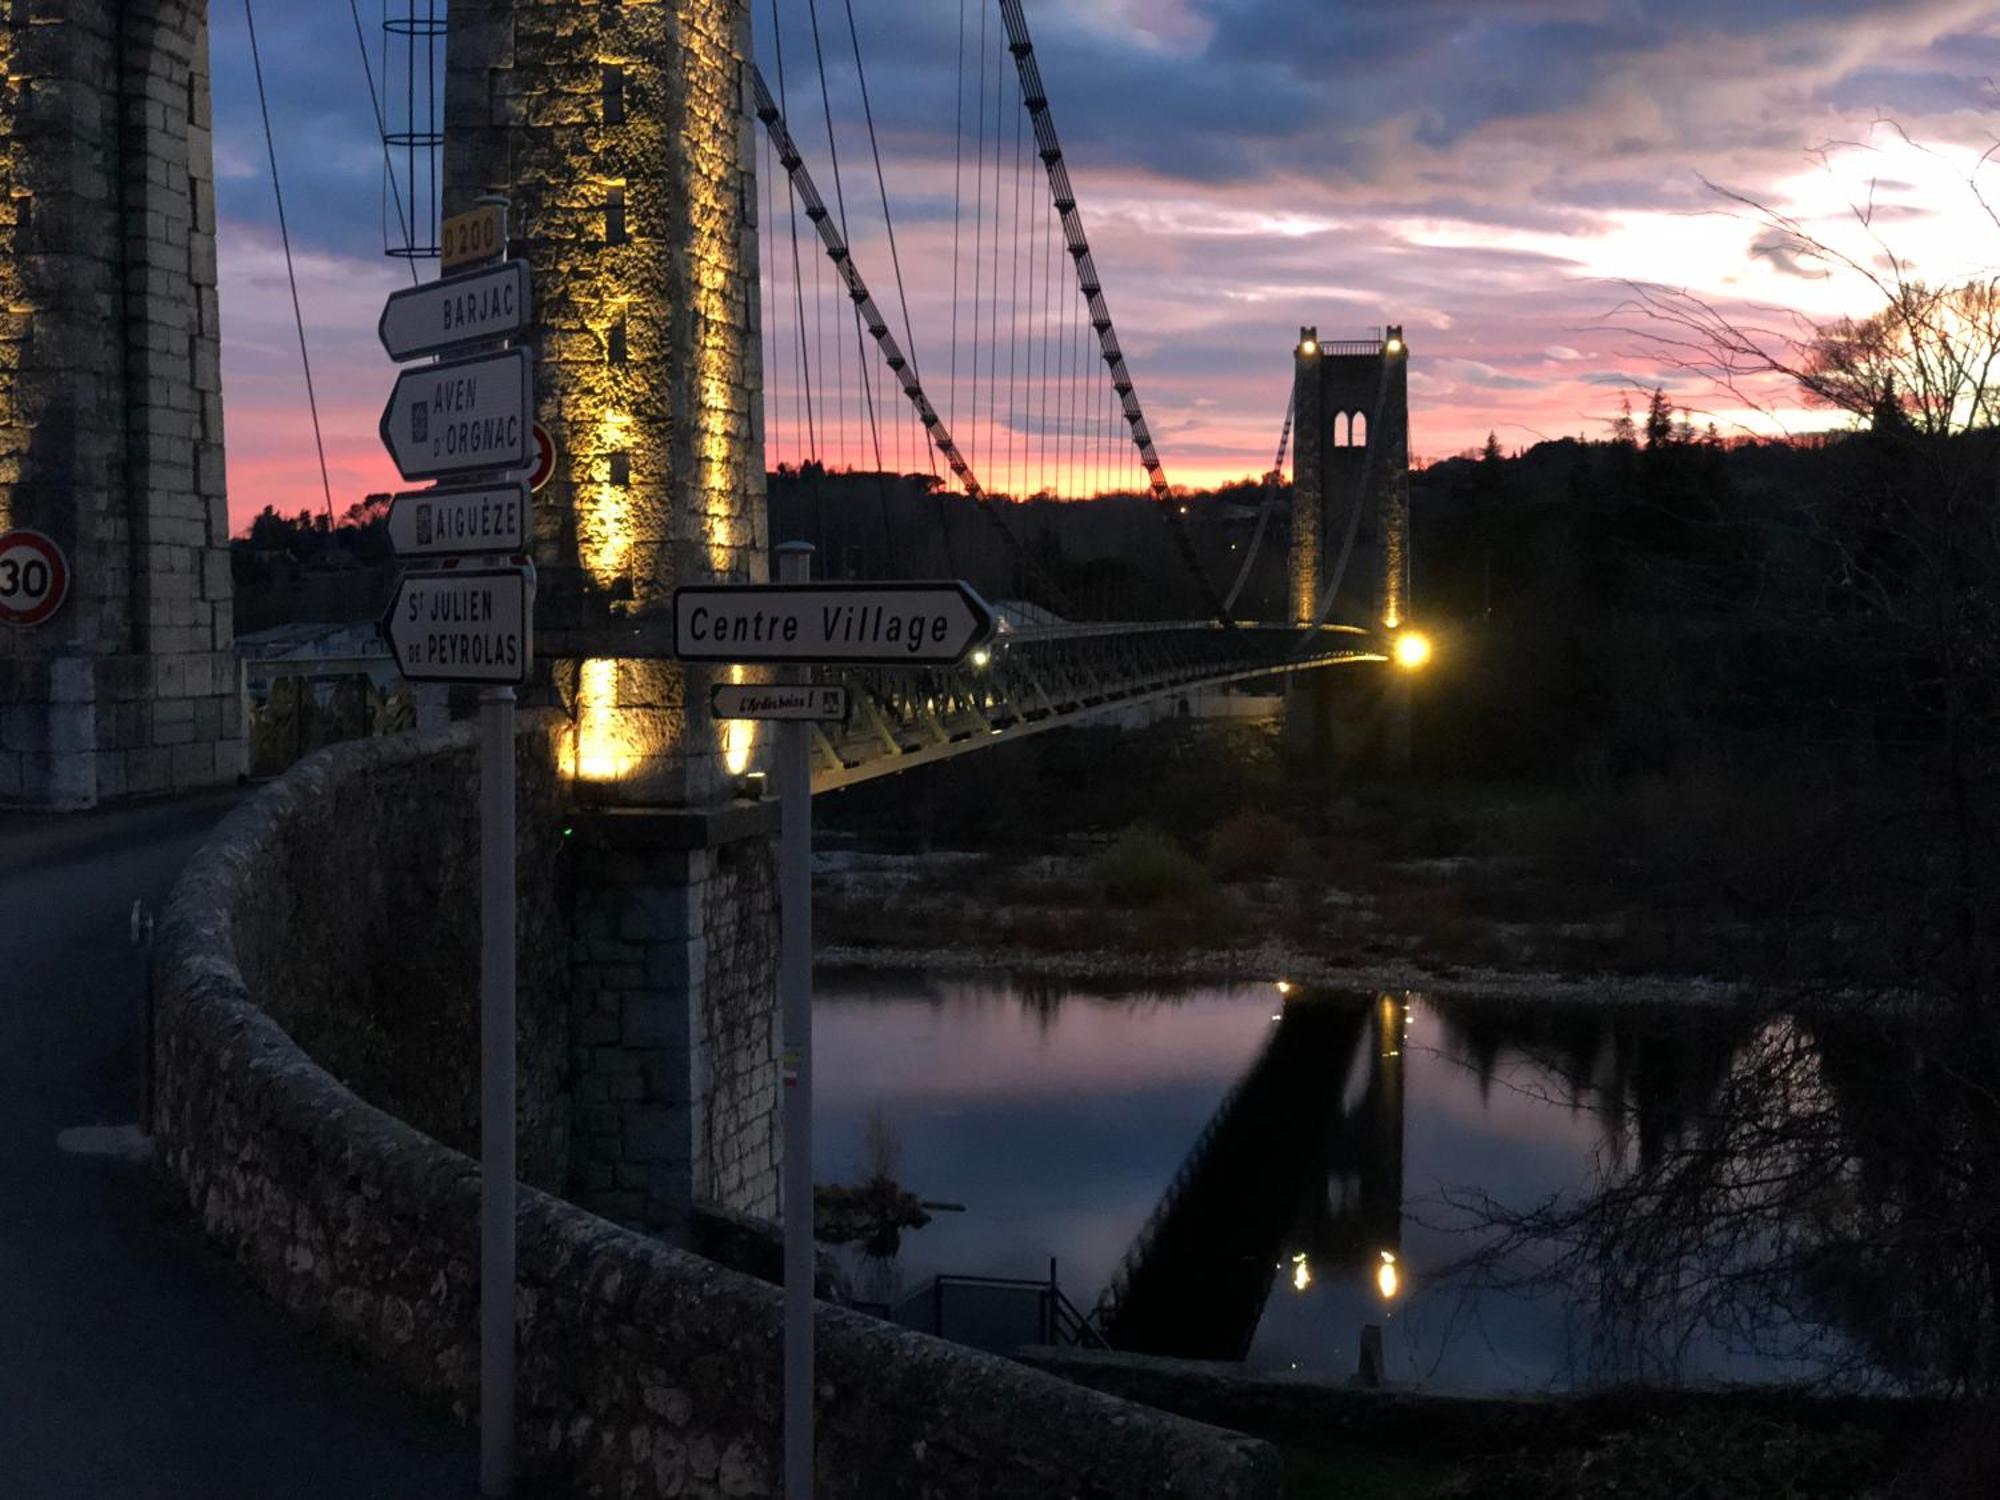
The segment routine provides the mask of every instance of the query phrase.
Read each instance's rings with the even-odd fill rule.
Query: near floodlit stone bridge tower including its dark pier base
[[[570,1194],[674,1232],[772,1212],[774,806],[748,726],[646,646],[680,584],[766,576],[746,0],[454,0],[444,212],[504,194],[534,272],[546,692],[578,816]]]

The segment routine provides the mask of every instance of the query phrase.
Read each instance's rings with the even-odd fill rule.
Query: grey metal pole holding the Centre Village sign
[[[812,576],[812,546],[778,548],[778,578]],[[784,668],[790,684],[810,666]],[[778,992],[784,1002],[784,1500],[812,1500],[812,726],[778,726]]]

